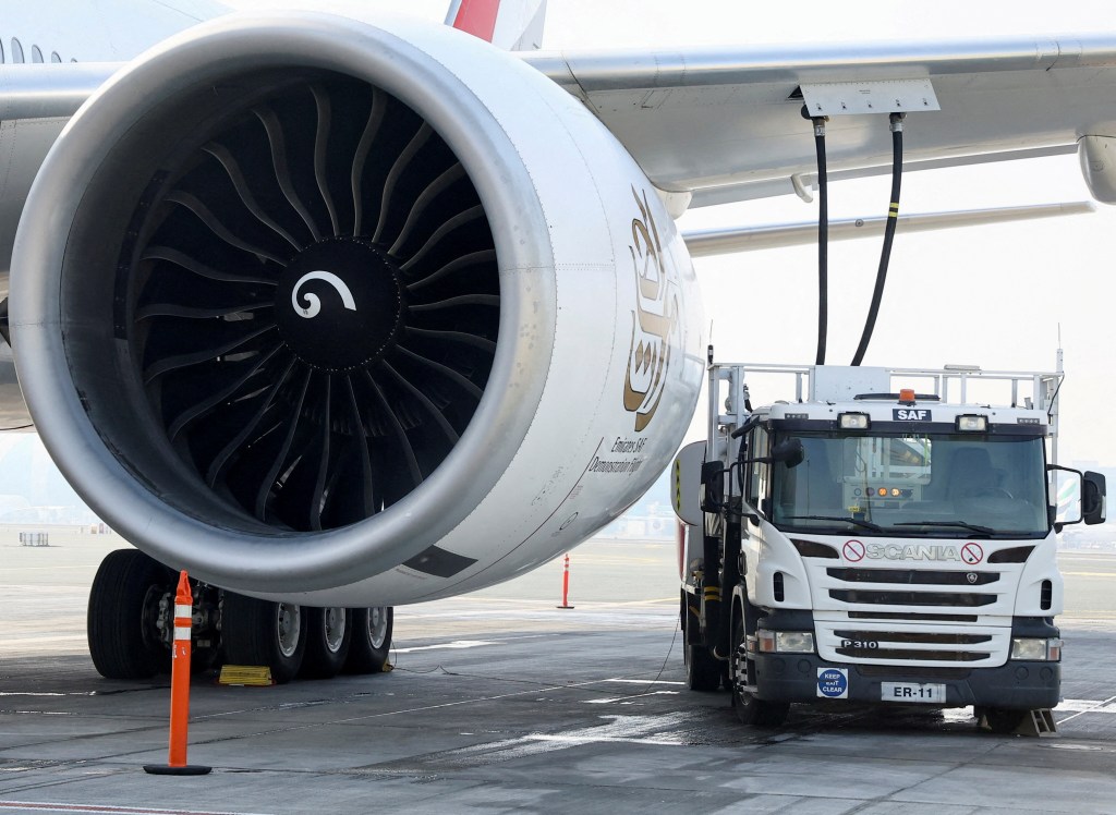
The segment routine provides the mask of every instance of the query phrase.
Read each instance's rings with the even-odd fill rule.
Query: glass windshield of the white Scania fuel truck
[[[780,433],[802,442],[795,467],[771,472],[780,529],[894,537],[1042,538],[1041,437],[971,433]]]

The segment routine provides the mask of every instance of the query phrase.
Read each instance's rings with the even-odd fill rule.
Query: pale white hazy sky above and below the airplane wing
[[[237,0],[241,8],[306,2]],[[326,8],[327,2],[311,3]],[[441,20],[446,2],[350,2]],[[1105,30],[1110,2],[719,2],[550,0],[545,48],[821,40],[940,39]],[[912,126],[916,126],[912,123]],[[830,215],[882,215],[886,178],[830,189]],[[904,213],[1088,200],[1075,156],[911,173]],[[683,229],[809,221],[797,198],[695,210]],[[1022,224],[896,237],[887,290],[865,364],[981,365],[1052,370],[1059,326],[1068,377],[1061,392],[1064,461],[1116,464],[1116,432],[1100,421],[1116,403],[1116,318],[1109,285],[1116,210]],[[847,363],[872,296],[879,241],[830,250],[829,357]],[[814,247],[695,261],[720,361],[812,362],[817,252]],[[773,399],[790,394],[769,394]],[[700,412],[704,409],[701,408]],[[699,421],[694,433],[702,434]]]

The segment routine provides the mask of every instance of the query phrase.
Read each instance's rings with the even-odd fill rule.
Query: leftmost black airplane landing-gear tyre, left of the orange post
[[[171,668],[158,629],[160,601],[172,575],[137,549],[110,552],[89,589],[86,635],[89,655],[106,679],[147,679]]]

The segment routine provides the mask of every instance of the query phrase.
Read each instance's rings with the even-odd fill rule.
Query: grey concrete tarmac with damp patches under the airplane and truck
[[[684,687],[673,545],[590,541],[574,608],[560,562],[397,608],[388,673],[198,678],[189,759],[213,770],[173,777],[142,769],[166,761],[169,682],[105,680],[84,651],[88,564],[116,546],[0,543],[0,813],[1116,813],[1114,555],[1062,559],[1054,735],[971,709],[745,728],[728,693]]]

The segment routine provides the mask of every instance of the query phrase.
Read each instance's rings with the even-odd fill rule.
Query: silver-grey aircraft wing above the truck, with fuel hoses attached
[[[1084,135],[1116,133],[1116,35],[525,59],[580,98],[660,189],[693,192],[695,205],[812,179],[809,83],[930,79],[941,109],[910,114],[907,169],[1066,153]],[[839,116],[827,130],[838,176],[889,164],[885,116]]]

